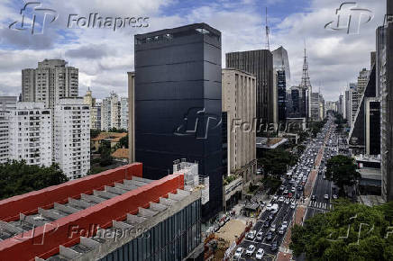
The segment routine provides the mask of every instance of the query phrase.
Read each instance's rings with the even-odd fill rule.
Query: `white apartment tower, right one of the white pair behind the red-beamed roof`
[[[70,179],[90,169],[90,108],[83,98],[63,98],[54,108],[53,157]]]

